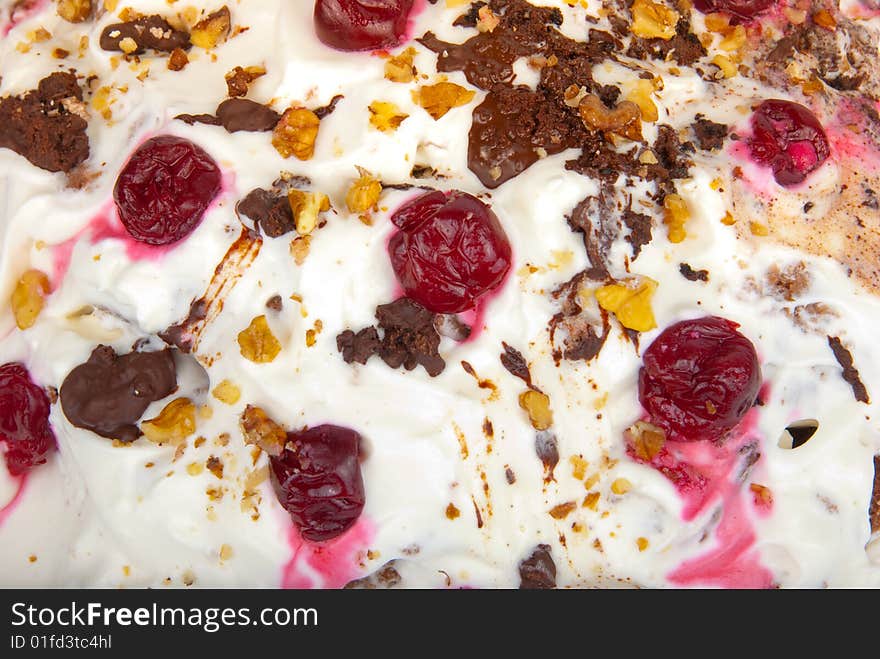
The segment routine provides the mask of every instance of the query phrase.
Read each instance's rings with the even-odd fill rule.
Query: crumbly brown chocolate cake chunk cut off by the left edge
[[[73,73],[53,73],[23,96],[0,99],[0,147],[41,169],[69,172],[89,157],[82,100]]]

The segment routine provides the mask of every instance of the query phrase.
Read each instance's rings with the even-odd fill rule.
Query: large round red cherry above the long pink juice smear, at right
[[[758,355],[737,327],[717,316],[682,321],[645,351],[639,401],[669,439],[722,439],[755,403]]]

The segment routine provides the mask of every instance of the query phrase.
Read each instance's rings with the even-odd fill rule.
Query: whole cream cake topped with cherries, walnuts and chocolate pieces
[[[0,584],[880,586],[867,0],[19,0]]]

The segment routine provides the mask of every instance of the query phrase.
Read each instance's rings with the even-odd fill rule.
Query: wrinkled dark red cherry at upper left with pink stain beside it
[[[113,199],[138,242],[170,245],[201,223],[220,191],[220,168],[189,140],[160,135],[144,142],[122,168]]]

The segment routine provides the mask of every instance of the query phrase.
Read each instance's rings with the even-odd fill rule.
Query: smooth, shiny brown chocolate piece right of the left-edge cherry
[[[113,348],[98,346],[61,385],[61,408],[77,428],[133,442],[141,436],[137,422],[150,403],[176,389],[171,350],[117,355]]]

